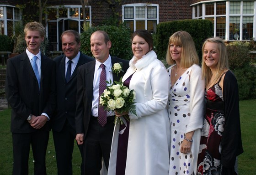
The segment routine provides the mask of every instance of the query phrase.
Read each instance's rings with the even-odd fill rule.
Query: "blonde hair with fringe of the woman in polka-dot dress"
[[[169,38],[169,43],[166,52],[166,62],[173,65],[176,62],[171,58],[170,44],[179,45],[181,51],[181,67],[191,67],[193,64],[199,64],[195,43],[191,35],[187,31],[177,31]]]

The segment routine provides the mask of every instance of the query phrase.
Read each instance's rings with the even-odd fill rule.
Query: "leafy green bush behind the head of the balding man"
[[[131,49],[131,31],[124,25],[120,26],[96,26],[84,31],[80,35],[81,48],[84,54],[92,56],[90,38],[94,31],[101,30],[107,32],[112,46],[110,48],[110,55],[116,56],[122,59],[129,60],[132,58]]]

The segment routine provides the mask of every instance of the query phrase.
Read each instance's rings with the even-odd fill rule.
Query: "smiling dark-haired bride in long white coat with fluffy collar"
[[[169,76],[152,48],[153,39],[148,31],[133,33],[134,56],[123,82],[131,78],[129,88],[136,92],[137,116],[128,113],[127,159],[122,173],[125,175],[168,175],[171,126],[166,104]],[[117,116],[124,114],[127,113],[117,113]],[[115,125],[108,175],[120,175],[116,173],[119,127]]]

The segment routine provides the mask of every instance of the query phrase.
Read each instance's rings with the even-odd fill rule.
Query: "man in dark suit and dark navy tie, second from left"
[[[79,51],[81,44],[77,31],[64,31],[60,39],[64,55],[54,58],[56,63],[57,108],[51,124],[58,175],[72,175],[72,154],[76,136],[77,68],[94,59]],[[82,145],[78,145],[78,147],[83,158],[83,147]],[[83,169],[81,166],[81,175],[84,174]]]

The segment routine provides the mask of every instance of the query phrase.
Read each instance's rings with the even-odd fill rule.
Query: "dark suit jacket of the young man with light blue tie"
[[[5,93],[11,110],[11,132],[36,131],[27,122],[29,114],[47,113],[52,117],[56,105],[55,64],[41,53],[40,92],[26,51],[7,60]],[[49,122],[43,128],[50,131]]]

